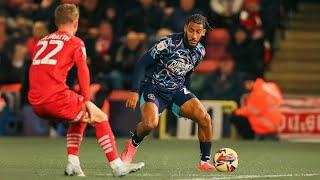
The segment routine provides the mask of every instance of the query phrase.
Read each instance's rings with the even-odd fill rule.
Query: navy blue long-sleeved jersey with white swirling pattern
[[[178,33],[162,38],[138,61],[132,84],[134,91],[140,91],[141,82],[152,83],[166,92],[188,86],[190,75],[203,59],[205,49],[200,43],[189,49],[183,36],[184,33]]]

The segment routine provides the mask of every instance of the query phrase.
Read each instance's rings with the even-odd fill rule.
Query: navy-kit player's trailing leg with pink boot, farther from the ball
[[[152,95],[150,95],[152,94]],[[138,123],[134,134],[127,142],[125,149],[121,153],[122,161],[130,163],[136,154],[137,148],[152,129],[159,123],[159,111],[164,109],[165,103],[155,97],[154,93],[143,93],[140,98],[141,122]]]

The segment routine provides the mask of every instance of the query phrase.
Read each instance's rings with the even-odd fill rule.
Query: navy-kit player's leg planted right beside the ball
[[[200,165],[199,170],[215,170],[210,164],[211,140],[212,140],[212,122],[206,108],[198,98],[191,92],[182,90],[175,96],[174,106],[176,113],[189,118],[198,124],[198,138],[200,142]]]

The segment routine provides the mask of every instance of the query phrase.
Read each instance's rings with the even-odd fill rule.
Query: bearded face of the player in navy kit
[[[189,46],[195,47],[199,43],[201,37],[206,34],[206,29],[204,29],[203,24],[191,22],[184,26],[184,33],[187,36]]]

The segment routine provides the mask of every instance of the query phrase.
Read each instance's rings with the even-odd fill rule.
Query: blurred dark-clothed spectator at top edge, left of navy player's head
[[[124,33],[136,31],[145,35],[155,34],[162,23],[163,14],[153,0],[139,0],[140,6],[125,15]]]

